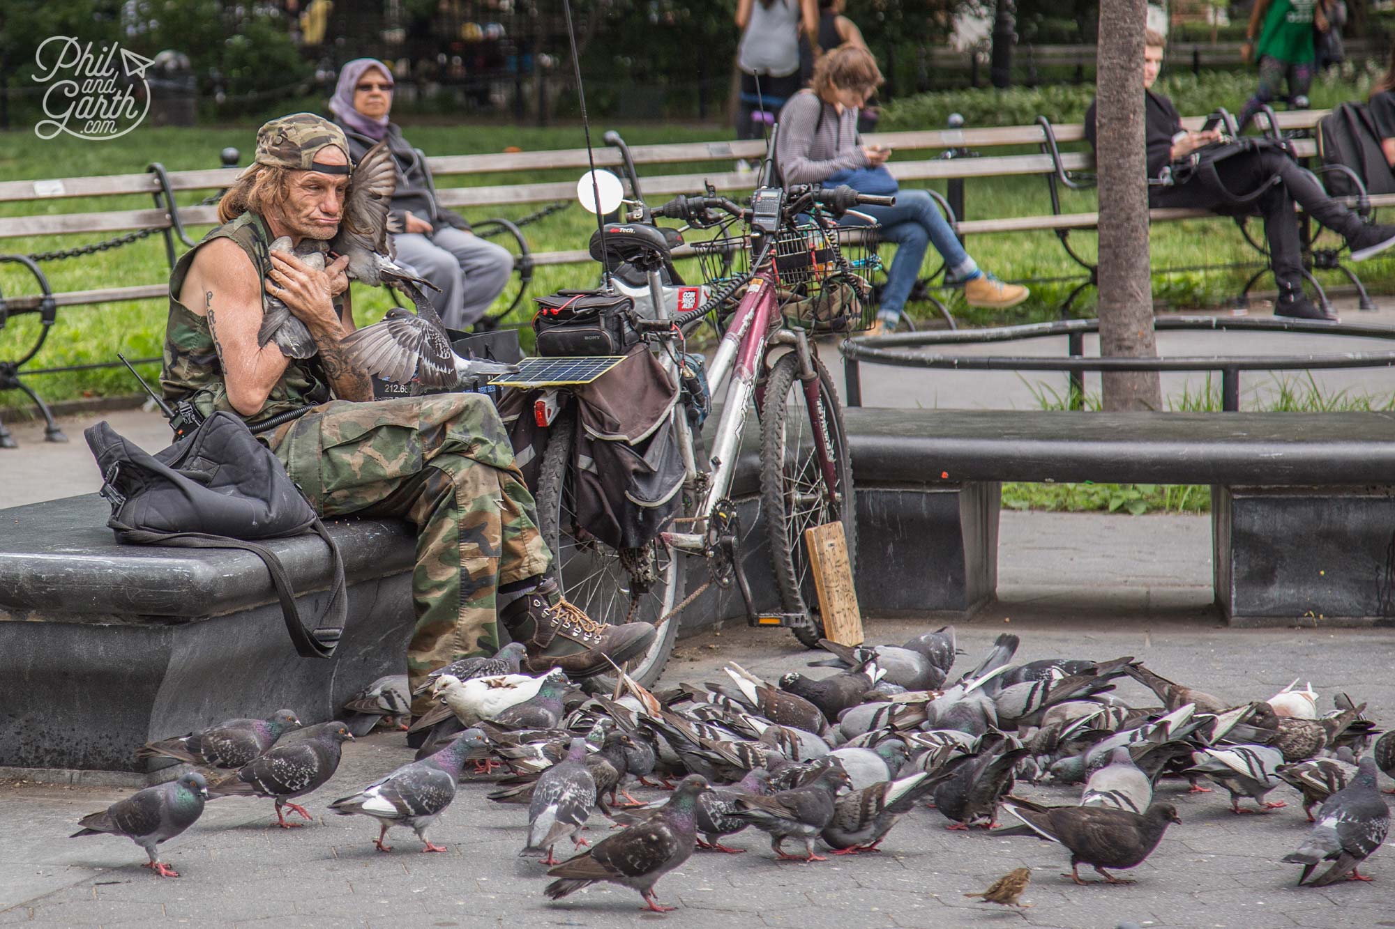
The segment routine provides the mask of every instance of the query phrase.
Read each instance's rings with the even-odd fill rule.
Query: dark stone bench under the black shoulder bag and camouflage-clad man
[[[406,670],[406,523],[328,523],[349,615],[333,657],[312,660],[296,656],[255,555],[120,545],[109,515],[96,494],[0,511],[0,767],[142,773],[135,749],[149,739],[278,707],[332,720],[374,678]],[[266,544],[318,615],[324,543]]]

